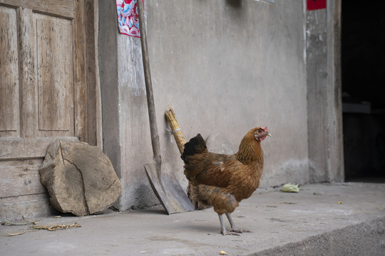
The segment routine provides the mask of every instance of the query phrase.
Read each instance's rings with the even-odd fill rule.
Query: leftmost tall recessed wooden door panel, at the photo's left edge
[[[0,137],[19,137],[16,10],[0,6]]]

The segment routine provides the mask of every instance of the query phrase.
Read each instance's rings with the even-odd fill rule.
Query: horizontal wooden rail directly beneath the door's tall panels
[[[46,156],[48,144],[55,139],[78,142],[75,137],[50,137],[37,139],[1,139],[0,161],[36,159]]]

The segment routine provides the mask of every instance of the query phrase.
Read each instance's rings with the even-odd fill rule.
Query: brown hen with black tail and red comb
[[[260,143],[267,136],[271,136],[267,127],[251,129],[243,137],[237,153],[232,155],[207,151],[200,134],[185,144],[181,158],[185,162],[185,176],[193,188],[190,199],[214,207],[220,218],[222,235],[251,232],[237,228],[230,213],[260,186],[263,169]],[[230,230],[225,229],[223,213],[230,222]]]

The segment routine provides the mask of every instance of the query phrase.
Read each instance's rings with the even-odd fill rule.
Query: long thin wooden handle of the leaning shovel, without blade
[[[161,162],[160,142],[159,142],[158,126],[156,122],[153,84],[151,82],[151,74],[150,74],[150,60],[148,58],[147,33],[145,31],[143,1],[138,0],[137,4],[138,4],[139,29],[140,29],[140,43],[142,45],[143,69],[145,73],[144,74],[145,75],[145,92],[147,95],[148,119],[150,120],[151,144],[153,144],[154,161],[159,164]]]

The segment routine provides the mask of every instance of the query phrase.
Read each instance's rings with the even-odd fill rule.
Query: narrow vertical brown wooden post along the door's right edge
[[[74,51],[74,117],[75,136],[81,142],[88,142],[87,124],[87,71],[86,71],[86,33],[84,27],[84,1],[76,1],[76,17],[73,26]]]

